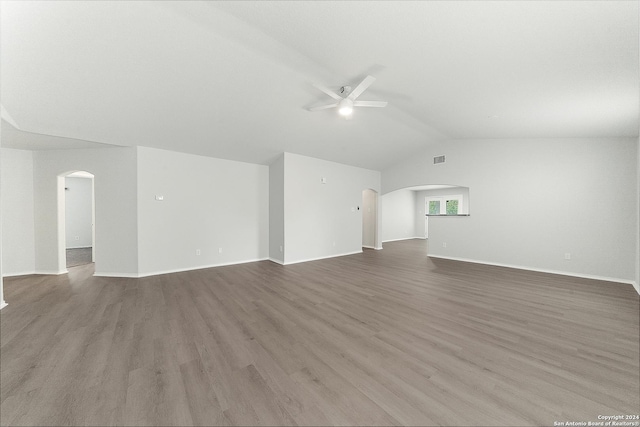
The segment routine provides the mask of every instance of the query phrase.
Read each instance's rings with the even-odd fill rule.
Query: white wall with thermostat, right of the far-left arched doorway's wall
[[[267,166],[146,147],[137,159],[141,276],[268,258]]]

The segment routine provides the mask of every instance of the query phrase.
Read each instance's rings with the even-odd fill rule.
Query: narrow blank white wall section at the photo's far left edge
[[[35,271],[33,153],[2,148],[2,274]]]

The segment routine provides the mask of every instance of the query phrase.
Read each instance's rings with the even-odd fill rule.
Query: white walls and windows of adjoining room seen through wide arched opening
[[[426,239],[429,216],[468,216],[469,187],[425,184],[382,196],[382,241]]]

